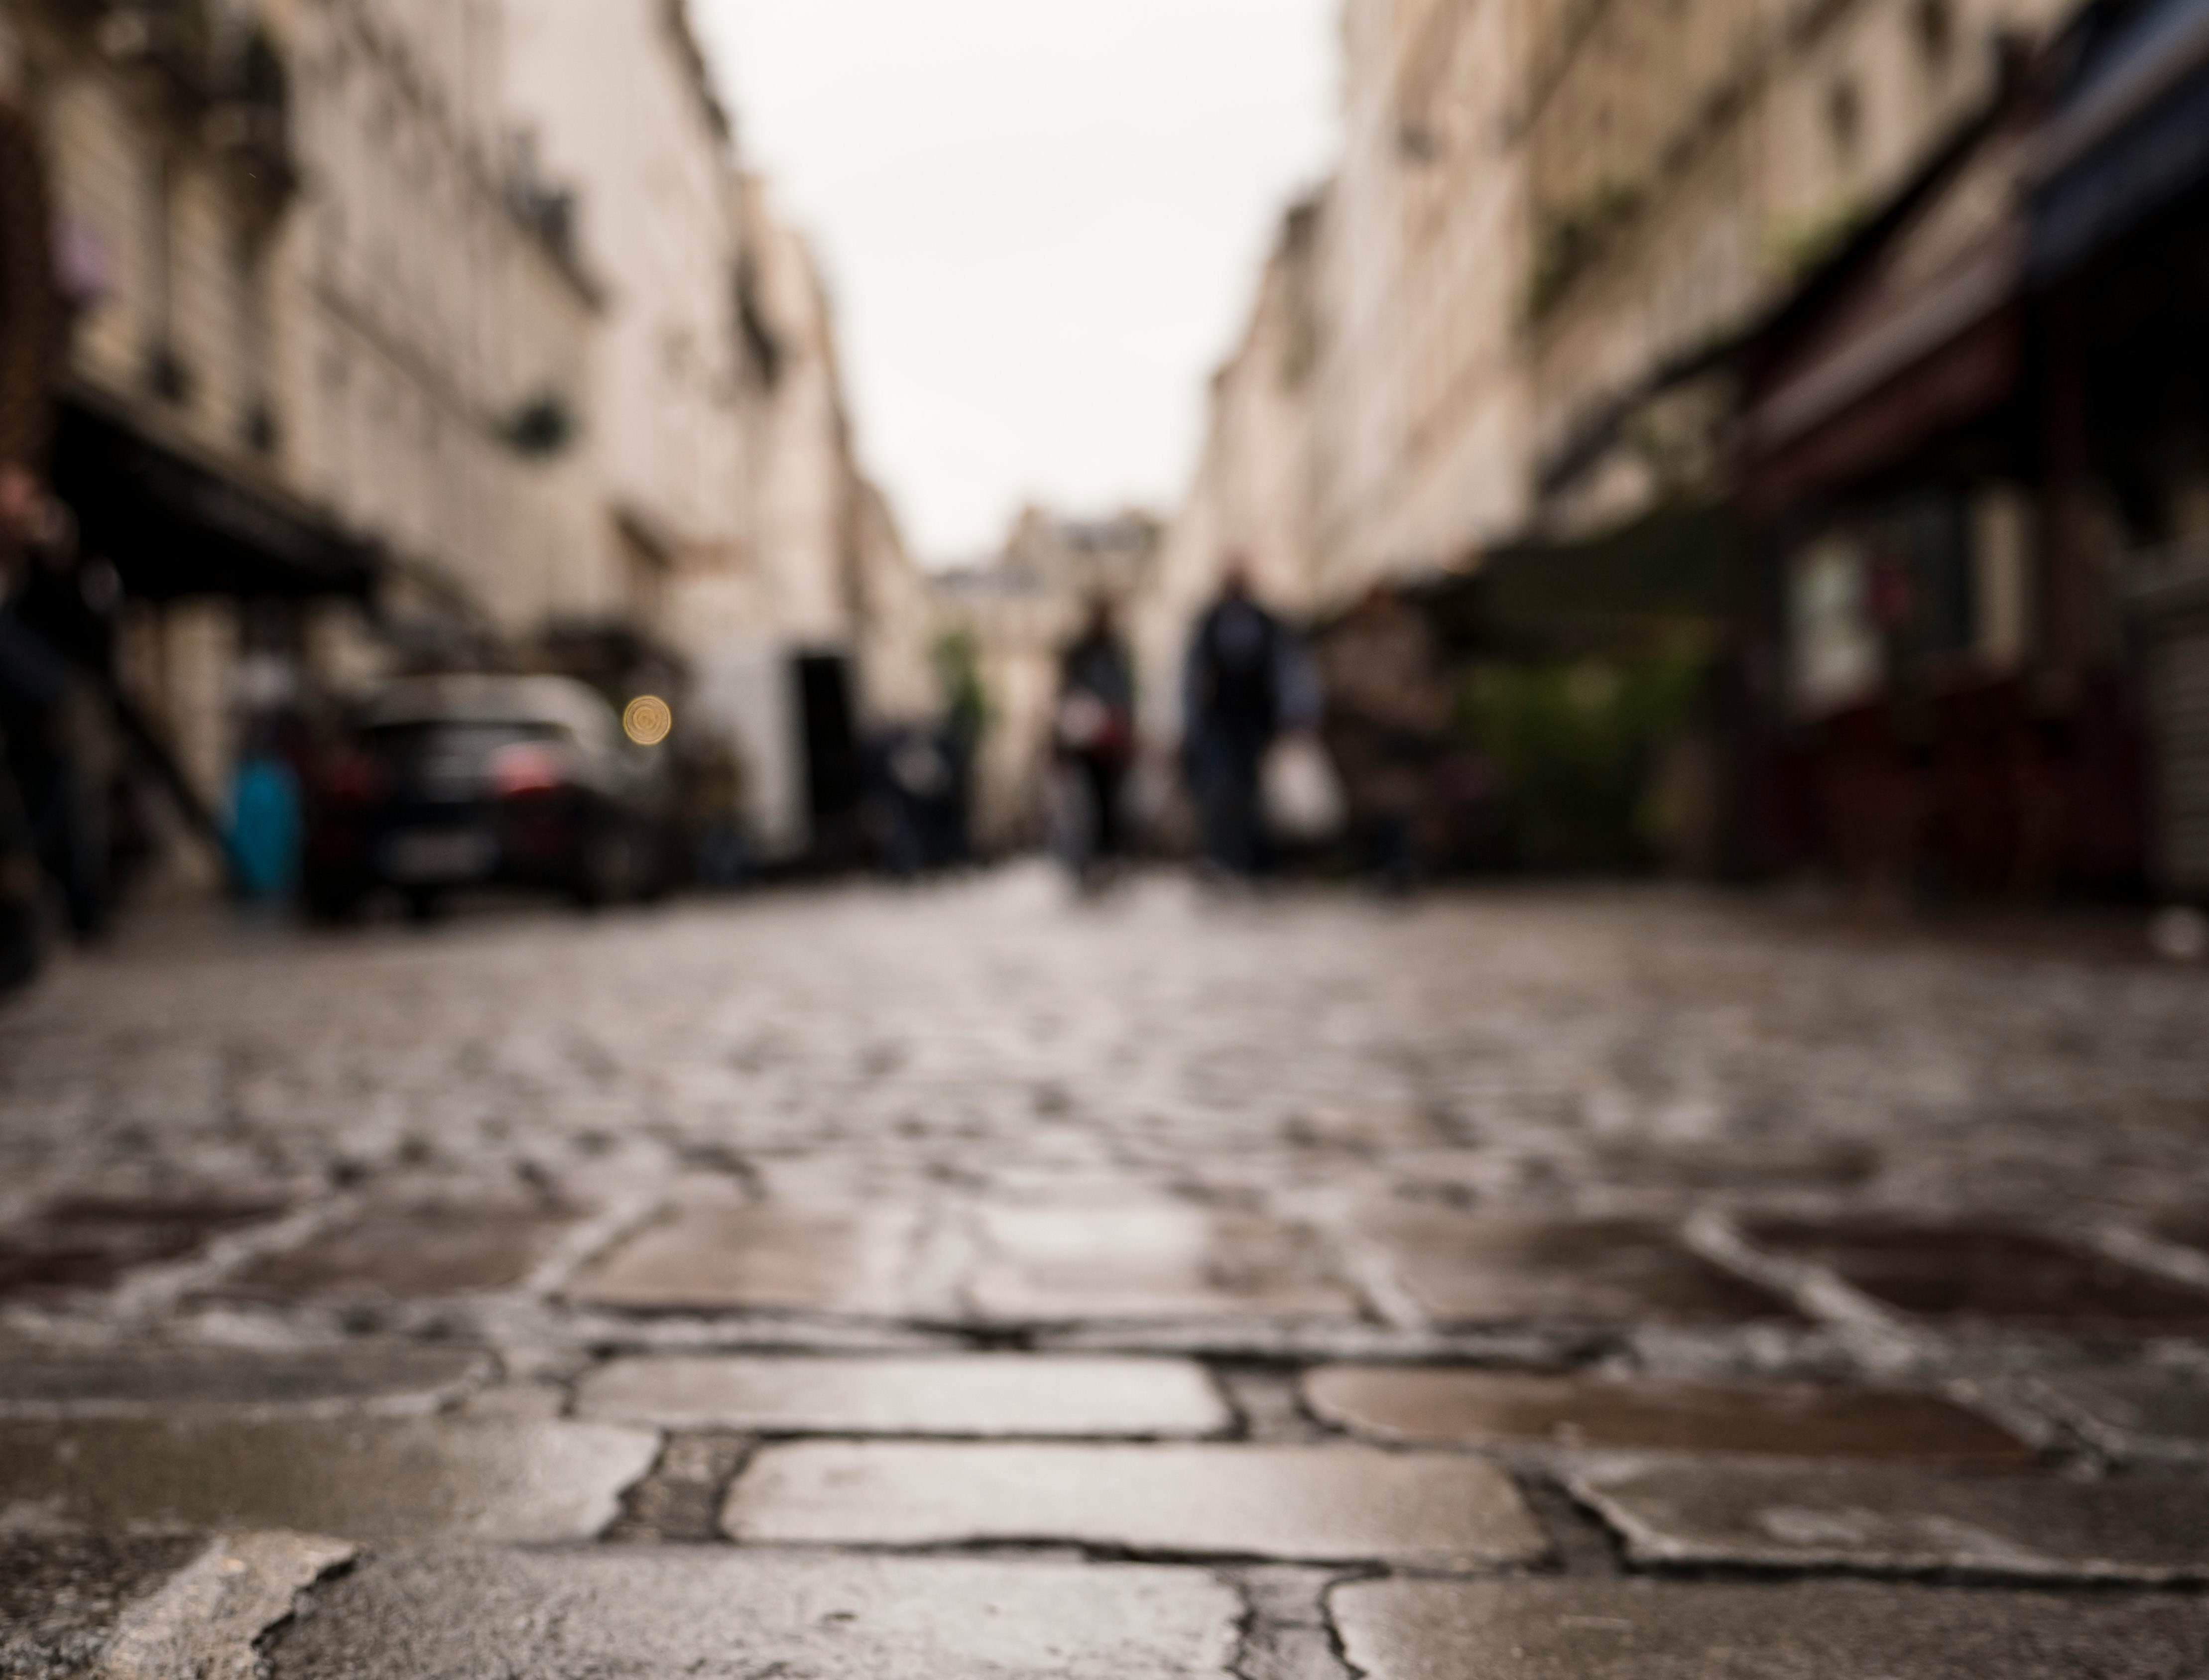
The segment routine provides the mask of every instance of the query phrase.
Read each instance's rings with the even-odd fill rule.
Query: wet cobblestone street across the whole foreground
[[[2209,1676],[2209,974],[1036,870],[0,1011],[0,1676]]]

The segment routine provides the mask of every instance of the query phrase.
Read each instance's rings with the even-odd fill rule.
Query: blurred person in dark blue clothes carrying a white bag
[[[1317,722],[1317,682],[1297,638],[1250,589],[1248,563],[1226,567],[1219,596],[1188,638],[1184,757],[1204,868],[1255,879],[1266,868],[1266,753],[1283,731]]]

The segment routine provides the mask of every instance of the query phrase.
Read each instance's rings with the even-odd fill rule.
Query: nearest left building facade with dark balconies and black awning
[[[199,879],[219,868],[236,673],[258,656],[296,682],[371,583],[303,495],[287,430],[283,241],[305,179],[283,22],[245,0],[11,13],[71,316],[53,472],[86,565],[115,581],[113,645],[80,653],[168,775],[150,821],[194,821],[199,846],[183,828],[163,850]],[[95,733],[119,770],[121,735]]]

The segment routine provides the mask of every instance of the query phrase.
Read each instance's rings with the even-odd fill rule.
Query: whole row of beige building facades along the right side
[[[1345,0],[1341,166],[1215,378],[1146,662],[1230,552],[1310,614],[1719,495],[1725,351],[2070,9]]]

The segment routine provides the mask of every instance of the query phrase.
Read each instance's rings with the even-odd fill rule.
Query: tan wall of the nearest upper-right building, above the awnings
[[[1666,366],[1783,298],[1984,106],[2065,0],[1537,0],[1524,110],[1537,470]],[[1723,417],[1705,402],[1688,426]],[[1544,514],[1586,530],[1701,488],[1663,417],[1582,448]]]

